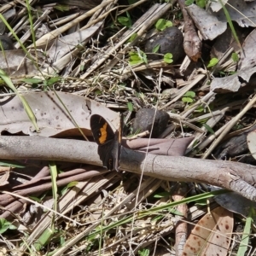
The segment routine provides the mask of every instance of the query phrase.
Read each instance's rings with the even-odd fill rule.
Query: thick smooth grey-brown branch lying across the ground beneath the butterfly
[[[61,160],[102,166],[96,143],[46,137],[0,137],[0,159]],[[170,181],[209,183],[256,201],[256,167],[122,148],[120,169]]]

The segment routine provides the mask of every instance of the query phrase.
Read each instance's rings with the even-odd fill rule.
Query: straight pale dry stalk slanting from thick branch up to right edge
[[[247,113],[247,111],[248,111],[250,108],[252,108],[255,103],[256,103],[256,95],[253,96],[253,99],[252,99],[250,102],[248,102],[247,106],[246,106],[245,108],[243,108],[243,109],[241,110],[241,112],[236,115],[235,118],[233,118],[233,119],[230,120],[230,122],[228,123],[228,125],[226,125],[226,128],[225,128],[225,130],[223,131],[223,133],[218,137],[218,139],[217,139],[214,143],[212,143],[211,147],[210,147],[210,148],[207,150],[207,152],[204,154],[203,159],[206,159],[207,156],[212,153],[212,150],[218,146],[218,143],[220,143],[220,142],[222,141],[222,139],[230,132],[230,130],[232,129],[232,127],[233,127],[234,125],[236,125],[236,123],[238,122],[238,120],[241,119],[241,117],[242,117],[245,113]]]

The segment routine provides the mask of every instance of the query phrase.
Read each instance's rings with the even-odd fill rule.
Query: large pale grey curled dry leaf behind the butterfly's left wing
[[[101,114],[113,125],[114,129],[119,127],[119,113],[111,111],[98,102],[84,98],[84,96],[64,92],[56,93],[63,104],[52,91],[23,95],[36,116],[40,128],[39,136],[52,137],[60,133],[61,136],[80,135],[73,119],[83,130],[84,135],[90,136],[90,115],[94,113]],[[0,132],[36,134],[18,96],[2,100],[0,104]],[[66,106],[73,119],[63,105]]]

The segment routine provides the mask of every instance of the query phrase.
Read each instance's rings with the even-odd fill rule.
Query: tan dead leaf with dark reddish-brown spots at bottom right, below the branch
[[[233,230],[233,213],[217,207],[195,225],[185,243],[185,255],[226,256]]]

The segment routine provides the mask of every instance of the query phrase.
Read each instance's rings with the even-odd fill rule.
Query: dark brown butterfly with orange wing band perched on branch
[[[123,118],[121,115],[119,130],[113,131],[108,121],[99,114],[90,117],[90,130],[98,144],[98,154],[102,165],[108,170],[119,171],[119,156],[122,140]]]

